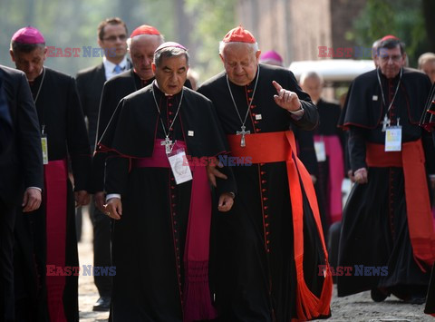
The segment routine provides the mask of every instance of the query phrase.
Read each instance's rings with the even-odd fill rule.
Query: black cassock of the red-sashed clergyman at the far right
[[[351,276],[338,276],[338,295],[347,296],[371,288],[384,288],[399,298],[424,294],[429,273],[422,272],[414,260],[404,193],[404,173],[400,167],[368,167],[366,143],[385,143],[382,121],[387,107],[376,70],[355,79],[343,115],[343,126],[350,129],[349,149],[352,170],[368,169],[368,183],[353,186],[343,210],[339,266],[352,267]],[[379,72],[385,102],[390,104],[400,79],[386,79]],[[403,69],[401,85],[388,112],[391,125],[399,121],[401,142],[421,139],[427,173],[434,173],[434,148],[430,135],[419,127],[421,113],[430,90],[429,78]],[[421,187],[421,194],[427,194]],[[355,275],[355,265],[387,268],[388,273]],[[370,268],[369,268],[370,269]],[[361,274],[360,274],[361,275]]]

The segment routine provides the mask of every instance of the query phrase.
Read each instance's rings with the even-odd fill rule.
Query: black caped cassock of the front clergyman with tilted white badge
[[[134,167],[137,159],[153,155],[155,140],[165,138],[151,91],[168,131],[181,93],[166,96],[151,84],[120,102],[116,130],[109,123],[108,132],[113,135],[108,136],[109,141],[103,135],[101,141],[111,150],[105,190],[108,194],[121,193],[122,201],[122,217],[115,220],[112,239],[116,267],[112,321],[183,319],[183,257],[192,181],[177,185],[168,168]],[[190,157],[211,157],[227,151],[212,103],[186,87],[169,138],[186,142],[186,155]],[[235,191],[233,182],[222,181],[218,187]]]

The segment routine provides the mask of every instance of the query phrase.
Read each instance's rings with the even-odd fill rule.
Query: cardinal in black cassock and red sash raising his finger
[[[313,182],[289,130],[292,123],[312,130],[316,108],[293,73],[258,64],[256,40],[243,27],[228,32],[220,49],[226,73],[198,92],[216,106],[231,155],[252,160],[233,169],[234,207],[216,220],[222,320],[328,317],[332,279],[322,224]]]

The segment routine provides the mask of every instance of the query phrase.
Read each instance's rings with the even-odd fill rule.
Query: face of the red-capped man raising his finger
[[[231,83],[245,86],[256,78],[260,51],[253,51],[248,44],[227,44],[220,58]]]

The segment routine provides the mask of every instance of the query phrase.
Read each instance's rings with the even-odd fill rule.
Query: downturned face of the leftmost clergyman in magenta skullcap
[[[10,51],[15,67],[25,73],[27,80],[32,82],[43,71],[43,62],[47,54],[47,48],[40,46],[34,48],[32,52],[13,52]]]

